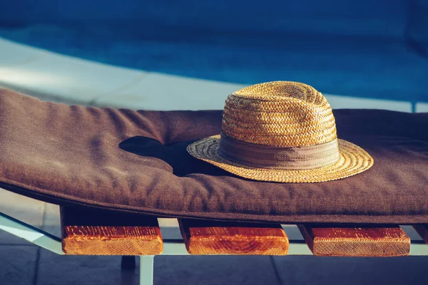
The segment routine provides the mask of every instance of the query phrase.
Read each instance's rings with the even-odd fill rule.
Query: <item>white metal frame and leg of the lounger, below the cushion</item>
[[[28,242],[64,255],[61,238],[55,237],[42,229],[14,219],[0,212],[0,229]],[[163,239],[162,255],[188,255],[182,239]],[[290,239],[288,255],[312,255],[303,239]],[[428,255],[428,245],[422,240],[412,240],[410,255]],[[140,284],[153,284],[153,255],[140,256]]]

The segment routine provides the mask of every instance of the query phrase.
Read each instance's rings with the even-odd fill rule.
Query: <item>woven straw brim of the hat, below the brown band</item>
[[[220,135],[213,135],[188,145],[190,155],[212,165],[223,168],[234,175],[251,180],[310,183],[338,180],[368,170],[373,158],[361,147],[352,142],[338,139],[340,160],[332,165],[310,170],[279,170],[249,167],[227,160],[218,153]]]

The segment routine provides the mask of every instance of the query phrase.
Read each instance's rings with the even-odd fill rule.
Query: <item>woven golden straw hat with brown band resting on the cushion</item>
[[[337,139],[327,99],[306,84],[275,81],[228,96],[220,135],[187,148],[190,155],[240,177],[323,182],[373,165],[361,147]]]

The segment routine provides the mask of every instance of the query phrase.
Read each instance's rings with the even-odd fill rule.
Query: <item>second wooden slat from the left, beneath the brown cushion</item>
[[[288,238],[282,227],[179,219],[185,247],[190,254],[285,255]]]

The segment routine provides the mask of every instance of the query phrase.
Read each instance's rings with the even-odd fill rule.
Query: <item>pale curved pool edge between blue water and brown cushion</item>
[[[110,66],[4,38],[0,38],[0,86],[44,100],[145,110],[219,110],[230,93],[244,87]],[[332,108],[412,111],[406,101],[325,96]],[[417,103],[416,110],[427,112],[428,104]]]

